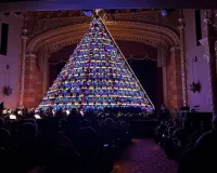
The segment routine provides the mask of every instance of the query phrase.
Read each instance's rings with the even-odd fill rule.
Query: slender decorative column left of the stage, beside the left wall
[[[20,81],[20,102],[18,106],[23,106],[24,86],[25,86],[25,61],[26,61],[26,42],[27,42],[27,29],[26,21],[24,21],[23,34],[22,34],[22,64],[21,64],[21,81]]]

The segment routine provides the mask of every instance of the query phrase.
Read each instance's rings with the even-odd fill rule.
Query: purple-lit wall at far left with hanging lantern
[[[0,16],[0,23],[9,24],[9,37],[8,37],[8,53],[7,55],[0,54],[0,102],[4,102],[4,105],[11,108],[15,108],[17,105],[18,94],[18,75],[20,75],[20,53],[21,53],[21,32],[22,32],[22,19],[16,16]],[[7,65],[10,66],[7,70]],[[3,88],[9,85],[13,90],[10,96],[5,96]]]

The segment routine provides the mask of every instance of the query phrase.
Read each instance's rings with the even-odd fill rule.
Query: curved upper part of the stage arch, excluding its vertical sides
[[[144,42],[155,48],[161,44],[164,44],[165,48],[179,45],[177,34],[165,27],[129,22],[111,23],[106,26],[117,40]],[[27,52],[38,53],[44,48],[51,51],[54,48],[63,48],[69,43],[77,43],[87,29],[87,24],[78,24],[48,31],[34,38],[28,43]]]

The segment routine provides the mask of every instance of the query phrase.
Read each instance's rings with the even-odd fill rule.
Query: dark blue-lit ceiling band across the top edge
[[[214,9],[214,0],[3,0],[0,12],[85,9]],[[3,2],[1,0],[1,2]]]

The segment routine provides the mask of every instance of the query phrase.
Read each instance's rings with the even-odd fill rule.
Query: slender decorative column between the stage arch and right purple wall
[[[180,56],[181,56],[181,81],[183,106],[188,105],[187,94],[187,69],[186,69],[186,45],[184,45],[184,21],[182,10],[179,10],[179,35],[180,35]]]

